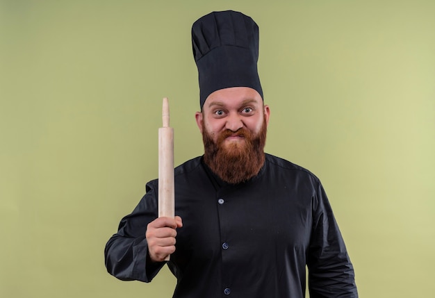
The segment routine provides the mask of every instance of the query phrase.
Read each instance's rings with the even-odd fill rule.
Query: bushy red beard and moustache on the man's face
[[[267,124],[264,118],[263,126],[257,134],[245,128],[238,131],[222,131],[216,142],[202,122],[202,140],[204,142],[204,161],[211,170],[223,181],[238,184],[248,181],[260,172],[265,154]],[[231,135],[243,137],[244,142],[224,144]]]

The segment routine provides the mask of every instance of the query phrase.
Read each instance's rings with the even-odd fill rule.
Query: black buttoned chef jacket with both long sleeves
[[[149,282],[145,231],[158,215],[158,180],[108,240],[110,274]],[[302,298],[306,265],[311,298],[358,297],[354,270],[329,201],[308,170],[266,154],[261,172],[229,185],[202,157],[175,169],[177,249],[167,262],[175,298]]]

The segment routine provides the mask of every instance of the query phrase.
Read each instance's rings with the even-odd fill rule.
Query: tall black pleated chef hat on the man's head
[[[258,26],[232,10],[204,15],[192,25],[192,49],[199,73],[199,104],[216,90],[249,87],[263,98],[258,77]]]

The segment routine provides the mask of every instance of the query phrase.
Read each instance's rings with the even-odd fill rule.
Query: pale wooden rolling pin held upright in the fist
[[[174,129],[169,126],[169,102],[163,99],[163,127],[158,129],[158,217],[174,217]],[[169,260],[169,256],[165,260]]]

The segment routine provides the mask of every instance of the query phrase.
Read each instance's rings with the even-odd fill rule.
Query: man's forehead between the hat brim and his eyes
[[[232,87],[217,90],[208,95],[204,102],[204,108],[212,108],[213,106],[241,106],[244,104],[261,104],[263,99],[261,95],[252,88],[248,87]]]

